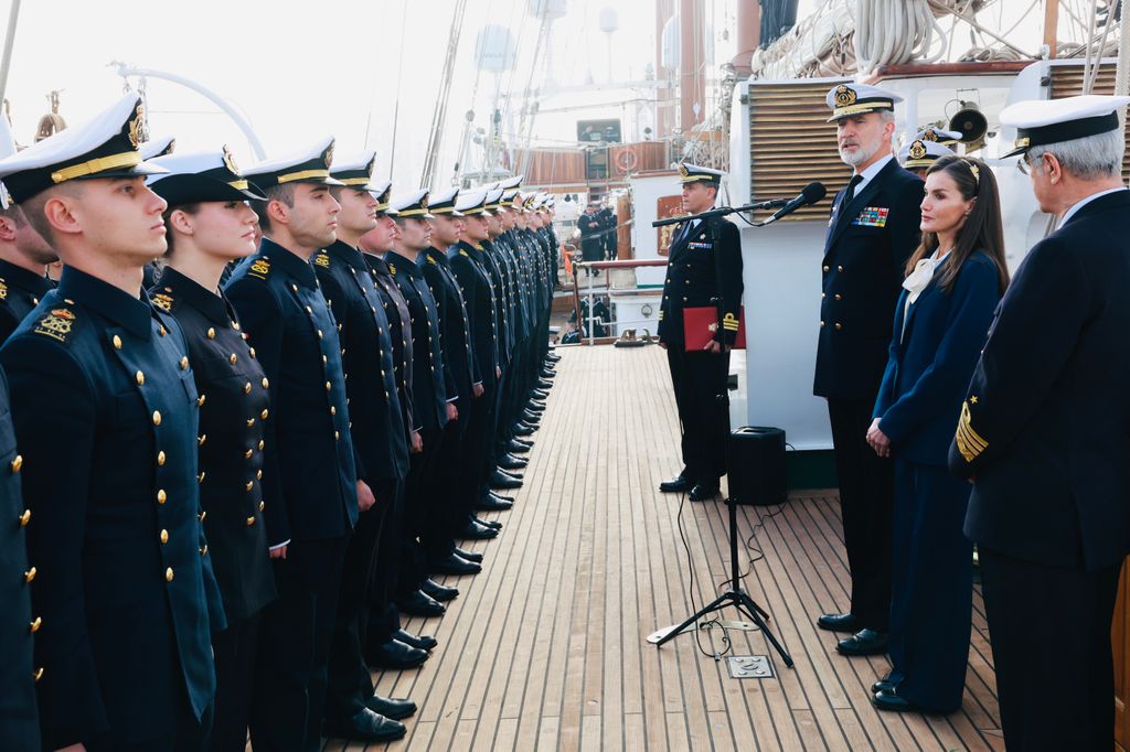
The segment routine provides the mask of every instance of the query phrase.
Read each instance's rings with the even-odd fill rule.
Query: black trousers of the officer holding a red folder
[[[684,474],[696,483],[716,483],[725,474],[725,441],[730,436],[724,397],[730,353],[686,352],[681,343],[671,343],[667,364],[683,423]]]

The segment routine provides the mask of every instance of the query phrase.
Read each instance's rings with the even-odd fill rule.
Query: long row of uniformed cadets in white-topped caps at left
[[[399,614],[479,570],[455,542],[497,535],[475,511],[512,504],[544,409],[551,200],[450,192],[443,225],[372,152],[145,161],[141,119],[0,161],[0,746],[399,738],[416,706],[370,670],[436,647]]]

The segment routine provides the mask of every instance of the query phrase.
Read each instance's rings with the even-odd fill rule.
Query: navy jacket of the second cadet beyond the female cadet
[[[385,304],[356,248],[339,241],[315,255],[313,263],[322,294],[341,324],[357,476],[371,484],[403,480],[408,474],[408,431],[397,395]]]

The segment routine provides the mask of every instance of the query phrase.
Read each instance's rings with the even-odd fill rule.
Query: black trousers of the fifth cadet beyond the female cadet
[[[441,462],[427,487],[432,497],[429,500],[432,511],[424,519],[420,544],[429,563],[445,558],[454,550],[455,534],[467,523],[467,518],[460,514],[462,489],[459,469],[466,451],[463,437],[467,435],[467,423],[471,419],[469,403],[472,399],[470,394],[461,396],[458,402],[459,418],[449,420],[444,427],[440,439]],[[463,413],[464,410],[467,414]]]

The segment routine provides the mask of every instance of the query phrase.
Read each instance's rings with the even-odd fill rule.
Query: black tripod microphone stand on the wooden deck
[[[779,206],[784,206],[784,203],[788,203],[788,201],[766,202],[766,203],[779,203]],[[746,209],[748,209],[748,207],[739,207],[737,209],[731,209],[729,207],[725,207],[723,209],[714,209],[712,211],[704,211],[701,215],[695,215],[694,219],[699,219],[704,217],[722,217],[724,215],[734,211],[745,211]],[[668,225],[671,224],[670,220],[660,220],[660,222]],[[653,225],[659,225],[660,222],[653,222]],[[714,222],[707,222],[707,225],[710,226],[711,241],[713,243],[716,243],[719,241],[718,228]],[[721,331],[722,317],[723,317],[722,296],[719,295],[718,297],[715,297],[713,299],[713,303],[718,308],[718,326],[719,331]],[[722,358],[729,357],[729,352],[725,350],[724,344],[722,346],[722,353],[719,357]],[[727,368],[727,373],[729,373],[729,368]],[[727,384],[728,381],[729,381],[728,378],[723,381],[722,393],[714,395],[714,399],[716,399],[721,403],[722,410],[727,416],[727,419],[723,425],[723,432],[725,434],[725,444],[723,444],[723,446],[725,447],[725,469],[727,469],[727,476],[729,478],[730,467],[733,465],[733,457],[730,454],[730,431],[729,429],[725,428],[725,426],[728,426],[730,422],[729,421],[730,391]],[[781,659],[784,662],[784,665],[792,668],[793,664],[792,656],[789,655],[788,650],[784,649],[784,646],[781,645],[776,636],[773,633],[773,630],[771,630],[768,624],[765,623],[766,621],[768,621],[770,614],[759,605],[757,605],[754,598],[751,598],[749,594],[741,588],[741,572],[740,572],[740,567],[738,565],[738,500],[729,495],[729,488],[727,489],[727,491],[728,493],[725,497],[725,506],[730,513],[730,586],[727,588],[724,593],[722,593],[716,598],[714,598],[713,601],[704,605],[702,609],[699,609],[697,613],[687,618],[687,620],[684,621],[681,624],[672,628],[670,631],[668,631],[666,635],[659,638],[655,641],[655,647],[657,648],[662,647],[664,642],[668,642],[669,640],[677,637],[680,632],[683,632],[683,630],[696,624],[699,620],[714,613],[715,611],[721,611],[727,606],[733,606],[738,610],[739,613],[744,613],[747,617],[749,617],[749,620],[757,626],[757,629],[762,632],[762,635],[765,636],[765,639],[777,652],[777,655],[781,656]],[[715,659],[718,656],[715,655]]]

